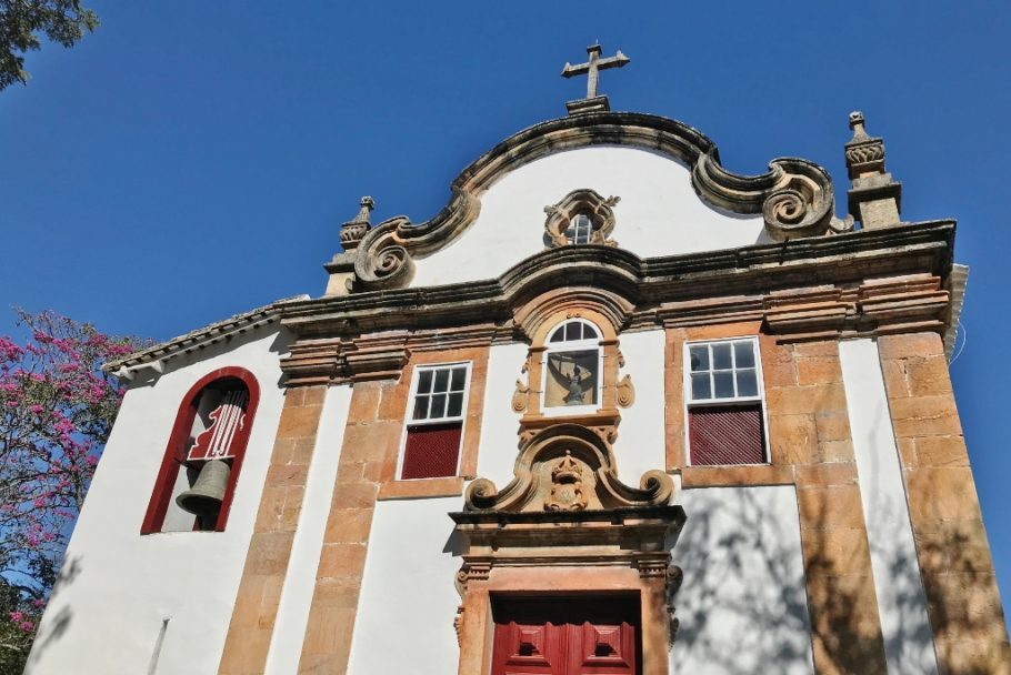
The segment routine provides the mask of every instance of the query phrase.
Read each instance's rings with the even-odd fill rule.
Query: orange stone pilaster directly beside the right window
[[[834,340],[762,340],[773,464],[792,464],[814,668],[887,673],[857,460]]]

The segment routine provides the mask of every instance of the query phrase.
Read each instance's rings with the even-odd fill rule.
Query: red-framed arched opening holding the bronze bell
[[[141,534],[222,531],[260,389],[241,367],[202,377],[183,397]]]

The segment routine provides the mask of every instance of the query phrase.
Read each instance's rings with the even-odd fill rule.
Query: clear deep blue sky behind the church
[[[86,2],[99,30],[29,54],[0,93],[0,304],[166,339],[299,293],[358,199],[416,222],[511,133],[584,91],[682,120],[723,163],[825,167],[845,209],[847,114],[903,183],[903,218],[959,220],[972,273],[952,366],[1011,596],[1005,224],[1011,4],[982,2]],[[12,331],[0,313],[0,334]]]

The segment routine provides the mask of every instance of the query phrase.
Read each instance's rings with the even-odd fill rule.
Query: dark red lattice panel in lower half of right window
[[[688,429],[692,465],[765,462],[765,431],[760,403],[690,409]]]

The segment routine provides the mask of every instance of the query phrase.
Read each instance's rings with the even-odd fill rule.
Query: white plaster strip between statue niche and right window
[[[631,376],[635,402],[621,409],[621,424],[614,443],[618,477],[627,485],[639,486],[639,478],[651,469],[663,471],[663,331],[622,333],[620,349],[624,367],[619,377]]]

